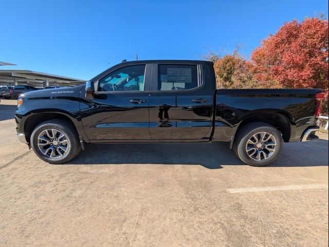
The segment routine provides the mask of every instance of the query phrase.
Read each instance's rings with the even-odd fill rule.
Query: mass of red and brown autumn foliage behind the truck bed
[[[236,49],[224,57],[211,51],[218,88],[320,88],[328,114],[328,20],[323,16],[285,23],[262,42],[251,60]]]

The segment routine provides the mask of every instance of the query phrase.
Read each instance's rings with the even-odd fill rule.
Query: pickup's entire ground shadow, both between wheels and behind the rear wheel
[[[288,143],[277,161],[266,167],[328,166],[328,142]],[[220,169],[245,165],[225,143],[93,144],[66,164],[200,165]]]

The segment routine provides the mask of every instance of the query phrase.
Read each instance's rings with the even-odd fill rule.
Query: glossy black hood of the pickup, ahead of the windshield
[[[79,97],[80,91],[83,89],[85,84],[72,87],[61,87],[59,89],[42,89],[23,93],[19,98],[50,98],[50,97]]]

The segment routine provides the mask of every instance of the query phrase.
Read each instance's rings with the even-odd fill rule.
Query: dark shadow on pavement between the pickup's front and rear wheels
[[[90,144],[66,164],[243,165],[225,143]]]

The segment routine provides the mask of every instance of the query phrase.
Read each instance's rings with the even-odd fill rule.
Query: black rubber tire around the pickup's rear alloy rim
[[[260,154],[260,158],[263,157],[261,160],[254,160],[249,156],[252,151],[248,154],[247,152],[247,143],[250,138],[252,138],[253,135],[260,133],[260,132],[266,132],[268,134],[271,134],[273,138],[275,138],[276,141],[276,148],[275,151],[270,153],[268,157],[265,158],[265,155]],[[250,145],[250,144],[248,144]],[[257,145],[257,144],[255,144]],[[255,146],[254,145],[254,146]],[[281,135],[281,132],[276,129],[275,127],[268,125],[267,123],[264,122],[251,122],[248,123],[247,125],[243,126],[236,134],[234,138],[234,143],[233,143],[233,150],[235,154],[240,158],[240,160],[250,166],[266,166],[273,161],[275,161],[282,150],[283,146],[283,138]],[[273,147],[273,146],[272,146]],[[262,147],[259,147],[262,148]],[[255,152],[261,152],[263,150],[257,151],[257,147],[255,147]],[[265,150],[264,150],[265,151]]]

